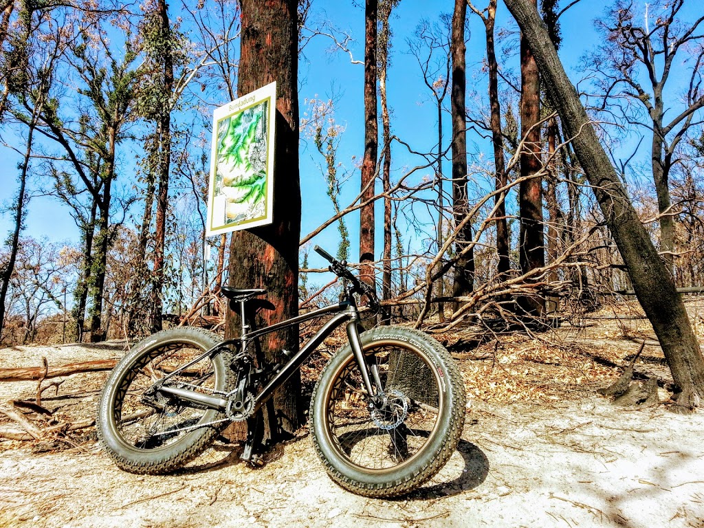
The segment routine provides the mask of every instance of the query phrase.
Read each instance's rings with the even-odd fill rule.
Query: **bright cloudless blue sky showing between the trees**
[[[315,13],[313,19],[329,18],[332,23],[341,30],[346,30],[353,35],[355,41],[350,47],[354,58],[361,60],[364,54],[364,19],[361,2],[350,0],[315,0],[313,5]],[[599,5],[595,9],[595,4]],[[601,2],[583,1],[568,11],[562,19],[562,34],[565,46],[560,52],[562,60],[572,71],[573,80],[579,80],[572,69],[577,65],[579,56],[584,51],[593,46],[596,42],[596,34],[593,31],[591,20],[601,11]],[[391,24],[394,28],[392,65],[389,71],[388,93],[389,105],[392,109],[392,133],[403,137],[403,140],[412,144],[417,150],[429,150],[436,144],[436,110],[434,103],[429,101],[429,93],[420,77],[420,70],[415,58],[408,55],[408,45],[406,39],[413,34],[413,30],[422,18],[436,20],[437,15],[444,11],[451,13],[453,2],[445,1],[422,1],[403,0],[394,11]],[[173,16],[173,14],[172,14]],[[501,27],[508,27],[515,30],[515,25],[507,25],[508,12],[499,3],[497,31]],[[479,94],[486,93],[486,76],[479,71],[482,58],[484,57],[484,26],[476,15],[470,17],[470,39],[467,44],[467,80],[470,86],[468,92],[476,90]],[[513,68],[517,70],[517,57],[503,60],[500,56],[503,68]],[[305,50],[305,58],[300,61],[300,84],[299,92],[301,100],[301,114],[306,110],[304,101],[306,99],[318,98],[327,99],[331,95],[332,87],[341,95],[336,108],[335,116],[337,124],[345,127],[344,138],[338,153],[339,161],[352,168],[352,156],[361,158],[363,150],[363,66],[351,64],[347,54],[339,51],[332,51],[332,42],[325,37],[316,37],[308,44]],[[222,103],[227,102],[226,94],[223,94]],[[469,101],[468,101],[469,102]],[[447,141],[451,137],[449,115],[444,118],[446,130],[444,138]],[[25,133],[25,130],[22,130]],[[3,137],[6,141],[18,144],[19,137],[13,137],[13,132],[4,130]],[[491,147],[486,142],[482,142],[476,137],[469,138],[470,149],[475,152],[486,151],[491,159]],[[473,143],[472,143],[473,142]],[[122,157],[130,158],[129,145],[122,147]],[[0,201],[7,202],[12,199],[16,189],[16,177],[18,170],[16,165],[20,161],[19,156],[9,149],[3,149],[3,156],[0,158],[0,172],[2,174],[0,185]],[[309,144],[301,137],[301,192],[303,195],[303,219],[301,234],[307,234],[310,230],[320,225],[320,223],[332,215],[332,205],[325,196],[325,180],[318,165],[322,163],[322,158],[315,151],[315,146]],[[401,149],[394,151],[394,175],[398,177],[404,172],[404,168],[417,165],[419,161],[411,156],[404,155]],[[449,171],[449,165],[444,168],[445,173]],[[118,184],[130,185],[130,175],[132,170],[129,166],[122,170]],[[432,176],[432,169],[425,170],[427,175]],[[341,196],[341,205],[346,206],[349,201],[356,196],[359,191],[359,171],[353,172],[351,179],[344,187]],[[381,214],[381,203],[377,204],[377,215]],[[141,205],[137,205],[134,213],[139,214]],[[358,214],[348,215],[346,218],[348,230],[351,234],[351,260],[356,260],[358,241],[356,231],[358,231]],[[8,215],[0,218],[0,236],[11,229],[12,219]],[[30,203],[25,223],[25,235],[32,237],[47,236],[54,240],[77,241],[77,230],[73,220],[68,215],[66,208],[58,205],[52,199],[34,197]],[[377,253],[381,251],[381,232],[377,230]],[[337,231],[335,227],[328,230],[314,240],[321,246],[334,251],[337,246]],[[317,258],[317,257],[316,257]],[[311,262],[315,265],[315,262]]]

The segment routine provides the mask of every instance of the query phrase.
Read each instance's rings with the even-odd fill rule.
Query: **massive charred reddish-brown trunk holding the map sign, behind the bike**
[[[265,325],[298,313],[298,240],[301,232],[301,187],[298,181],[298,26],[296,0],[241,1],[239,95],[277,82],[274,160],[274,222],[232,234],[230,285],[266,288],[274,310],[263,310]],[[239,335],[239,317],[227,310],[225,336]],[[282,349],[298,349],[298,327],[263,339],[265,360]],[[268,431],[272,439],[291,434],[301,424],[301,379],[294,375],[273,396]],[[269,406],[267,409],[270,409]]]

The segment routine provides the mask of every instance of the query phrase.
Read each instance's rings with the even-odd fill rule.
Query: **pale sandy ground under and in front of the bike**
[[[6,348],[0,360],[37,365],[47,353],[69,363],[119,356],[120,345]],[[45,403],[85,415],[98,398],[89,387],[104,377],[67,378]],[[35,382],[0,383],[0,399],[35,389]],[[78,405],[71,394],[86,390]],[[215,444],[166,477],[118,470],[91,436],[53,453],[1,441],[0,526],[704,527],[703,432],[703,412],[624,410],[589,391],[551,403],[474,400],[444,470],[393,501],[334,484],[306,429],[260,469]]]

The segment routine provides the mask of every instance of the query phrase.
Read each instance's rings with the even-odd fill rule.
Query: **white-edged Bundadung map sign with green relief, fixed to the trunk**
[[[276,83],[216,108],[206,234],[272,222]]]

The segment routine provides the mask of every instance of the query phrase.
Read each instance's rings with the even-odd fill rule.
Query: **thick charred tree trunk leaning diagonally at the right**
[[[650,241],[636,210],[599,143],[536,8],[527,0],[504,0],[539,65],[548,96],[592,186],[629,272],[636,297],[658,336],[679,389],[677,408],[691,409],[704,397],[704,358],[684,303],[667,266]]]

